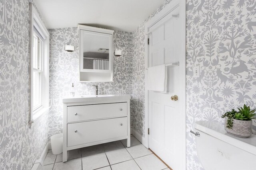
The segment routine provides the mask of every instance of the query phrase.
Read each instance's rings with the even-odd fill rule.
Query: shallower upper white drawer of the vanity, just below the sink
[[[123,117],[127,115],[127,103],[68,106],[67,122]]]

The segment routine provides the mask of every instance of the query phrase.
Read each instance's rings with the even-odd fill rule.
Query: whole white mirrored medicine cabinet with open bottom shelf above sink
[[[113,30],[78,25],[80,81],[113,80]]]

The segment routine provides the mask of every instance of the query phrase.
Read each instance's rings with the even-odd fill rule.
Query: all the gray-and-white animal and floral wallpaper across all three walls
[[[131,127],[144,136],[144,24],[133,33],[114,32],[114,81],[79,82],[77,28],[50,29],[50,112],[28,128],[29,2],[0,1],[0,169],[30,169],[50,136],[62,132],[62,96],[74,83],[77,94],[130,94]],[[256,107],[255,0],[187,0],[187,169],[202,170],[194,122],[223,123],[220,115],[244,103]],[[75,46],[73,53],[64,45]],[[193,68],[200,65],[201,76]],[[254,133],[256,130],[254,122]],[[47,139],[48,138],[48,139]]]

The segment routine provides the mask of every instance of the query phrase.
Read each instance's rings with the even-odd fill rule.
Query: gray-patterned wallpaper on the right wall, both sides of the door
[[[168,4],[167,0],[146,21]],[[244,103],[256,107],[255,0],[187,0],[186,143],[187,169],[202,170],[194,122],[223,123],[221,114]],[[144,136],[144,23],[134,32],[131,105],[134,129]],[[200,78],[192,69],[200,65]],[[254,121],[255,125],[255,121]],[[256,130],[256,126],[253,126]],[[255,132],[255,131],[254,131]]]

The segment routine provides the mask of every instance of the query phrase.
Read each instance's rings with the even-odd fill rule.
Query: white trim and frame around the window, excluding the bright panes
[[[36,29],[36,31],[34,31]],[[40,35],[42,40],[42,75],[40,84],[42,85],[42,106],[33,110],[33,41],[34,41],[34,32],[36,35]],[[30,3],[30,60],[29,60],[29,78],[30,78],[30,111],[29,111],[29,126],[31,127],[32,123],[37,121],[44,113],[49,111],[49,32],[45,27],[43,21],[41,20],[38,12],[34,8],[33,4]]]

